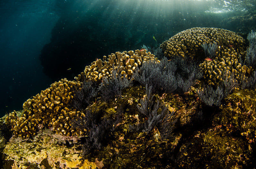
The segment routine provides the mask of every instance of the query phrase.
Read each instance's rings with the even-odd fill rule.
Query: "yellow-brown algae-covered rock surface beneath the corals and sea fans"
[[[93,103],[90,108],[114,118],[116,109],[124,107],[123,121],[109,132],[100,150],[93,150],[84,159],[79,156],[79,137],[54,134],[51,129],[41,129],[34,138],[12,138],[3,149],[4,166],[9,168],[248,168],[253,167],[255,154],[255,95],[252,90],[236,90],[228,95],[221,107],[206,107],[192,89],[184,95],[156,94],[175,111],[178,119],[173,139],[161,140],[154,128],[148,133],[129,131],[129,124],[147,120],[137,108],[145,97],[145,87],[135,84],[126,88],[120,98]],[[189,121],[199,110],[204,121]],[[68,146],[67,141],[70,143]],[[50,153],[54,152],[54,153]],[[43,157],[43,155],[45,157]],[[46,161],[47,159],[47,161]],[[54,161],[54,162],[53,162]],[[47,163],[48,162],[48,163]]]

